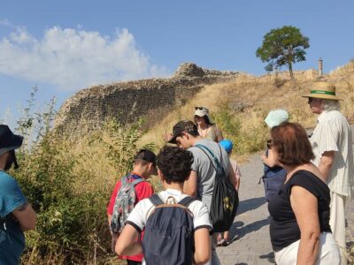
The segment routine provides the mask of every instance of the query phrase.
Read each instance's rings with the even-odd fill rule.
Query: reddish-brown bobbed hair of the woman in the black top
[[[280,163],[297,166],[314,159],[312,146],[302,125],[283,122],[271,130],[272,148]]]

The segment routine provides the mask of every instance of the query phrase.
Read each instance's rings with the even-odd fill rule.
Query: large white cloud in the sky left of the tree
[[[52,27],[42,39],[17,27],[0,40],[0,72],[61,90],[169,74],[164,67],[151,64],[126,28],[107,37],[81,27]]]

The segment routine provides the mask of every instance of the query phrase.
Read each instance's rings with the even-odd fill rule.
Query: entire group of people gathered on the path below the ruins
[[[350,124],[339,111],[335,86],[316,82],[304,97],[319,115],[311,137],[288,121],[285,110],[271,111],[265,120],[270,137],[262,155],[263,180],[275,260],[345,265],[344,208],[354,192]],[[0,125],[1,264],[18,264],[23,231],[35,228],[34,210],[6,172],[18,166],[14,150],[22,140]],[[224,184],[239,191],[241,173],[230,159],[233,144],[204,107],[195,108],[194,121],[176,123],[165,140],[171,145],[158,155],[140,150],[134,169],[114,187],[107,207],[112,249],[127,264],[220,264],[216,246],[230,243],[229,227],[213,232],[211,210],[220,170]],[[151,175],[158,175],[162,192],[154,194]],[[228,197],[222,204],[224,210],[237,207]]]

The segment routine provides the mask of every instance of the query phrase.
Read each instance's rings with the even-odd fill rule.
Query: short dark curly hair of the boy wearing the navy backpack
[[[189,178],[192,163],[192,153],[181,148],[165,146],[158,154],[158,169],[168,184],[182,183]]]

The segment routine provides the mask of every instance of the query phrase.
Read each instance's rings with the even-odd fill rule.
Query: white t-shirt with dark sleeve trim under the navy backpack
[[[173,189],[166,189],[165,191],[158,193],[158,196],[165,203],[173,203],[173,197],[176,202],[181,201],[187,197],[186,194]],[[170,198],[170,199],[169,199]],[[169,200],[167,200],[169,199]],[[154,205],[149,199],[139,201],[133,211],[127,218],[127,223],[133,225],[137,231],[142,231],[146,225],[146,222],[154,209]],[[202,201],[193,201],[189,204],[189,210],[193,214],[194,230],[198,228],[208,227],[212,231],[212,223],[209,217],[209,210]]]

